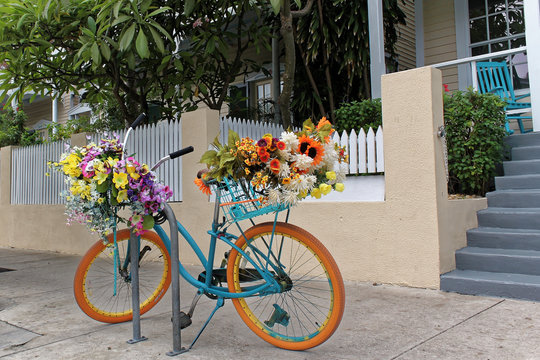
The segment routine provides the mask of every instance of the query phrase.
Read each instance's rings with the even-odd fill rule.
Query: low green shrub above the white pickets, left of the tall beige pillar
[[[352,129],[359,131],[363,128],[367,133],[369,128],[377,131],[382,125],[381,99],[351,101],[336,109],[334,127],[341,133]]]

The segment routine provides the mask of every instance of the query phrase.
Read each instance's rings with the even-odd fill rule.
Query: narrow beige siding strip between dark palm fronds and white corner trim
[[[396,26],[398,39],[395,51],[398,54],[398,71],[414,69],[416,67],[416,35],[414,0],[405,0],[405,4],[399,3],[399,7],[407,18],[405,25]]]

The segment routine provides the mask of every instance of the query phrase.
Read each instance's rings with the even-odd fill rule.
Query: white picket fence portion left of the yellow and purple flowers
[[[69,140],[14,148],[11,153],[11,203],[60,204],[60,192],[66,189],[63,176],[48,169],[56,162]],[[46,174],[49,173],[50,176]]]

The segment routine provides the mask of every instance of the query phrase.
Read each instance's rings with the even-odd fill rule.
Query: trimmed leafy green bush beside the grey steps
[[[502,161],[505,103],[472,89],[444,95],[450,193],[485,195]]]

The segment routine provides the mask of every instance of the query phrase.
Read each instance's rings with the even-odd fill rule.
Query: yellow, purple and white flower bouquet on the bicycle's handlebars
[[[118,139],[73,147],[49,166],[66,176],[69,190],[61,195],[66,199],[68,224],[84,224],[101,236],[109,234],[118,221],[126,222],[137,235],[144,233],[154,226],[152,215],[172,196],[146,164],[123,158]],[[118,214],[123,207],[130,210],[128,219]]]

